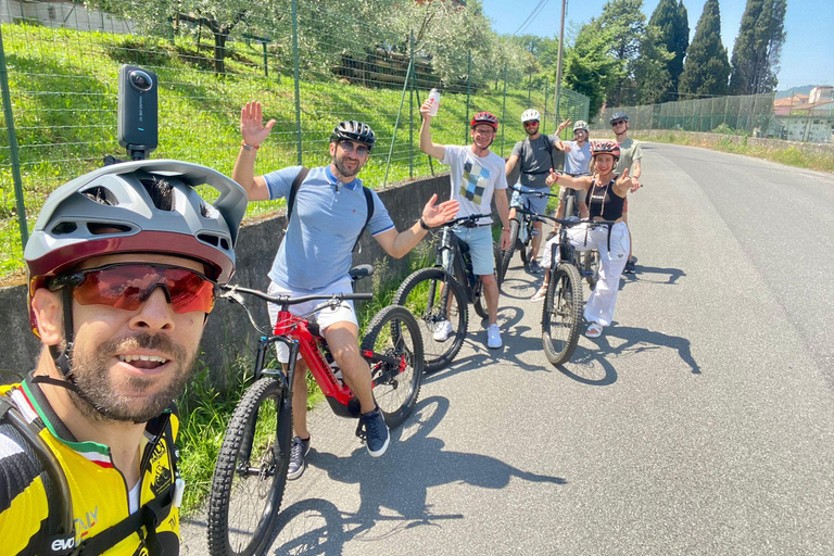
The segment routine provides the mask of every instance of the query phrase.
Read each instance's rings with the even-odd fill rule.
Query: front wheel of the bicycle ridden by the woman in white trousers
[[[544,355],[554,366],[570,361],[582,321],[582,283],[573,265],[563,264],[551,276],[542,313]]]

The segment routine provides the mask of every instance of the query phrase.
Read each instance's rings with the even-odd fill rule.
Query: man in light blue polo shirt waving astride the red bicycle
[[[243,141],[231,177],[243,186],[250,201],[288,198],[292,182],[302,170],[301,166],[291,166],[255,176],[255,155],[274,125],[275,121],[270,119],[264,126],[260,102],[249,102],[241,110],[240,131]],[[368,203],[362,180],[356,175],[367,163],[375,142],[374,131],[359,122],[342,122],[333,129],[330,138],[332,162],[327,166],[312,168],[295,194],[287,236],[269,271],[270,295],[352,292],[348,271],[353,262],[353,247],[366,222],[368,231],[382,249],[389,255],[400,258],[426,237],[429,228],[455,217],[457,201],[435,204],[438,195],[432,195],[422,208],[419,220],[399,232],[377,193],[370,191],[374,213],[368,222]],[[315,305],[316,302],[293,305],[292,312],[309,313]],[[273,326],[277,315],[278,307],[269,304]],[[353,303],[343,303],[336,309],[326,308],[316,315],[316,319],[342,370],[344,381],[359,401],[359,419],[365,428],[368,453],[379,457],[388,450],[388,427],[374,402],[370,369],[359,354],[359,328]],[[278,345],[278,359],[287,363],[289,352],[282,344]],[[303,359],[296,363],[295,368],[301,371],[300,377],[306,375],[307,367]],[[309,451],[306,401],[306,380],[295,380],[292,400],[295,438],[290,453],[290,479],[298,479],[306,468]]]

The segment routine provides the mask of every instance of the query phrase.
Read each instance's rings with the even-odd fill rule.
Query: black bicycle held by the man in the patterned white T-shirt
[[[420,325],[427,372],[447,366],[460,351],[469,323],[468,303],[479,317],[489,317],[483,282],[472,271],[469,247],[453,231],[457,225],[473,228],[488,216],[473,214],[444,224],[434,266],[410,274],[394,295],[394,303],[410,311]],[[492,248],[497,281],[501,253],[494,241]]]

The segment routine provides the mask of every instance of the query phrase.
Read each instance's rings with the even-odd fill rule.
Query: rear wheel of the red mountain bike
[[[368,362],[374,401],[390,428],[399,427],[420,395],[424,372],[422,336],[408,309],[389,305],[370,320],[362,353],[374,352]]]

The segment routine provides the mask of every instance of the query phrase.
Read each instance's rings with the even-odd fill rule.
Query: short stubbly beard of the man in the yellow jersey
[[[159,350],[174,357],[167,363],[173,367],[166,372],[167,384],[141,401],[121,393],[119,386],[127,386],[130,392],[143,393],[164,380],[162,377],[113,376],[109,371],[110,362],[116,353],[129,353],[137,349]],[[76,343],[72,353],[73,370],[67,378],[75,383],[78,392],[70,390],[70,399],[92,421],[146,422],[159,417],[182,394],[195,358],[197,352],[187,354],[185,348],[163,334],[142,332],[126,339],[110,340],[88,350]]]

